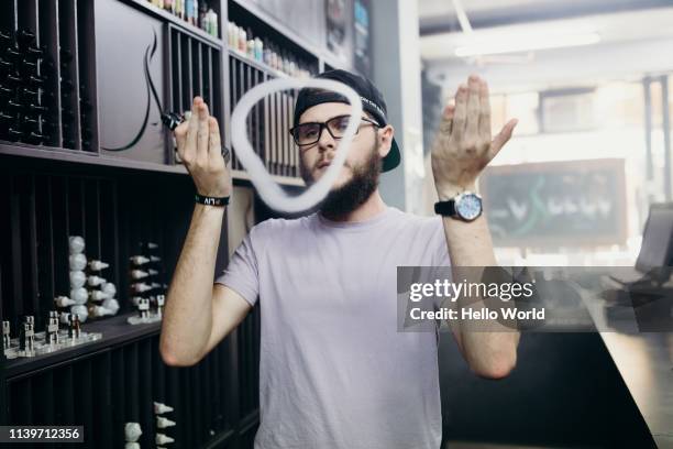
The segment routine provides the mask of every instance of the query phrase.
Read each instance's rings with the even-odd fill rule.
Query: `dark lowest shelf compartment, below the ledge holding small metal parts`
[[[8,424],[84,425],[82,448],[112,449],[123,446],[124,424],[134,421],[143,431],[139,442],[151,447],[156,401],[174,407],[165,416],[176,426],[165,434],[176,448],[202,447],[213,435],[234,437],[236,409],[227,387],[234,370],[231,342],[195,366],[170,368],[158,352],[158,324],[130,326],[125,318],[85,325],[103,332],[102,340],[81,347],[87,352],[70,351],[67,359],[21,374],[10,371]]]

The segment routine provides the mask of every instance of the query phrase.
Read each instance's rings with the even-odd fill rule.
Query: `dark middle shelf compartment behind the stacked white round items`
[[[143,242],[158,244],[155,255],[162,262],[153,266],[159,271],[153,282],[170,278],[194,205],[186,176],[166,183],[147,174],[93,175],[32,165],[2,164],[0,169],[0,206],[8,211],[0,217],[7,249],[0,255],[0,298],[12,337],[25,315],[43,330],[54,297],[69,296],[69,236],[85,239],[88,260],[110,264],[100,276],[117,286],[120,313],[134,310],[129,258],[146,254]],[[145,195],[156,199],[146,201]]]

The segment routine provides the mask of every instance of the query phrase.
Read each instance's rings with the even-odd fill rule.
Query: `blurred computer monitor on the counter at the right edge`
[[[651,205],[642,232],[642,245],[636,261],[636,270],[655,277],[668,278],[673,262],[672,237],[673,202]]]

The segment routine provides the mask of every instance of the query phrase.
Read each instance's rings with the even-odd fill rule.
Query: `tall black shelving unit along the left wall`
[[[161,103],[163,111],[183,111],[194,96],[202,96],[231,147],[235,103],[255,85],[287,75],[229,48],[228,20],[268,37],[312,73],[326,67],[330,56],[256,4],[208,3],[219,15],[217,37],[145,0],[0,3],[2,319],[11,322],[12,337],[25,315],[35,316],[36,331],[44,330],[53,298],[69,291],[68,236],[82,236],[87,255],[110,263],[104,276],[118,286],[121,304],[118,316],[82,325],[85,331],[102,332],[101,340],[47,355],[3,360],[2,425],[84,424],[89,438],[80,446],[98,449],[123,445],[123,424],[137,421],[143,429],[141,445],[151,447],[156,430],[151,405],[157,401],[175,408],[170,418],[177,426],[168,431],[176,439],[173,448],[253,446],[258,425],[258,307],[191,368],[162,362],[158,324],[125,324],[134,314],[129,258],[142,242],[158,243],[168,281],[192,211],[192,182],[176,161],[167,130],[154,124],[161,112],[155,105]],[[124,109],[114,113],[107,109],[107,77],[137,70],[140,65],[120,61],[111,72],[101,70],[109,57],[108,43],[132,45],[124,41],[125,31],[131,31],[124,30],[125,22],[104,23],[101,11],[139,19],[157,34],[156,47],[148,50],[156,59],[145,62],[155,64],[150,67],[155,72],[146,69],[133,78],[152,78],[161,86],[157,91],[111,94],[124,98],[128,111],[144,108],[144,96],[150,98],[145,134],[154,133],[159,147],[142,141],[130,151],[107,146],[106,132],[118,127],[117,118],[126,116]],[[295,95],[277,92],[261,101],[247,124],[251,143],[272,178],[300,190],[299,157],[288,133]],[[15,110],[7,109],[9,100]],[[251,185],[235,149],[232,176],[238,185]],[[272,213],[264,209],[257,219]],[[227,226],[220,241],[218,271],[227,263],[221,256],[228,254]]]

